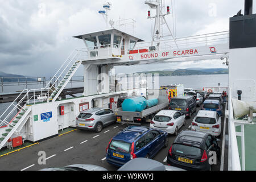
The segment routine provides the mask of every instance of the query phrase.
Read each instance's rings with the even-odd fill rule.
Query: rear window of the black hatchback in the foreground
[[[174,144],[172,146],[172,153],[181,156],[201,156],[201,149],[193,146],[186,146],[184,144]]]

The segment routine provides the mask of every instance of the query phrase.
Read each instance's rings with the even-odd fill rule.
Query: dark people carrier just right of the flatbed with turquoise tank
[[[191,118],[192,113],[196,113],[196,100],[193,96],[178,96],[172,98],[169,109],[178,110]]]

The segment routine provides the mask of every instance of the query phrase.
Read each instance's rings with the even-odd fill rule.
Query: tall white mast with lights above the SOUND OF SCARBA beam
[[[163,14],[163,7],[164,7],[163,0],[145,1],[145,4],[150,6],[150,9],[153,9],[156,11],[155,16],[151,16],[151,11],[148,11],[148,19],[155,19],[155,24],[154,24],[154,28],[153,28],[153,32],[152,32],[151,46],[153,46],[154,42],[156,42],[157,47],[159,49],[161,39],[166,36],[172,36],[172,38],[174,39],[174,42],[176,44],[176,47],[179,48],[177,46],[176,40],[175,40],[174,36],[172,35],[172,31],[171,31],[170,27],[168,26],[168,23],[165,18],[166,15],[170,14],[170,6],[167,6],[167,13]],[[166,25],[166,27],[169,31],[168,34],[164,34],[163,27],[161,27],[161,25]]]

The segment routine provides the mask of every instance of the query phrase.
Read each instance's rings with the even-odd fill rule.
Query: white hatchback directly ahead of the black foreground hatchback
[[[218,137],[221,134],[221,117],[216,111],[200,110],[192,121],[191,130]]]

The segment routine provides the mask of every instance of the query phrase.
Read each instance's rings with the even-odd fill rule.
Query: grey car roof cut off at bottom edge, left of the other
[[[39,171],[108,171],[107,169],[92,164],[73,164],[65,167],[49,167]]]

